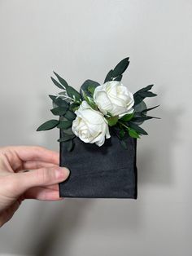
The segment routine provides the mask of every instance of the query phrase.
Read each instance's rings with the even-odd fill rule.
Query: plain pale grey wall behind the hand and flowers
[[[160,104],[137,144],[138,199],[25,201],[0,231],[0,254],[190,256],[191,0],[0,1],[1,146],[59,151],[52,71],[79,89],[130,57],[124,85],[154,83]]]

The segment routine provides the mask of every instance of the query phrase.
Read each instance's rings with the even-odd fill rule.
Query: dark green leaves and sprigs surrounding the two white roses
[[[129,58],[121,60],[114,69],[111,69],[104,80],[104,82],[121,81],[124,71],[129,66]],[[53,108],[50,109],[51,113],[59,117],[59,120],[51,119],[44,122],[37,128],[40,130],[50,130],[55,127],[63,131],[61,138],[58,139],[59,143],[63,143],[64,147],[68,151],[72,151],[74,148],[74,139],[76,136],[72,133],[72,121],[76,118],[75,111],[81,105],[81,102],[85,100],[91,108],[98,110],[97,105],[94,103],[94,90],[97,86],[100,86],[98,82],[93,80],[86,80],[82,85],[80,92],[75,90],[72,86],[68,85],[68,82],[55,73],[55,77],[50,77],[55,86],[60,90],[59,95],[49,95],[52,100]],[[146,108],[144,99],[155,97],[156,94],[151,92],[153,85],[146,86],[134,93],[134,105],[133,113],[125,114],[123,117],[112,117],[111,113],[107,113],[105,116],[108,126],[112,133],[114,133],[119,139],[124,148],[127,148],[126,139],[132,137],[134,139],[141,138],[142,135],[148,135],[141,125],[143,121],[150,120],[152,117],[147,113],[157,107]]]

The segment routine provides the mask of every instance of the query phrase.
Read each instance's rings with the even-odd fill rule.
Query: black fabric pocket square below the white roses
[[[77,137],[75,143],[72,152],[59,143],[60,166],[70,170],[68,179],[59,183],[60,197],[137,199],[137,139],[126,140],[128,149],[115,135],[101,147]]]

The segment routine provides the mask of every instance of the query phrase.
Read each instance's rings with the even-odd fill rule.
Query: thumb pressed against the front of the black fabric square
[[[12,196],[20,196],[29,188],[60,183],[68,178],[69,173],[68,168],[64,167],[44,167],[37,170],[13,174],[12,192],[14,194]]]

